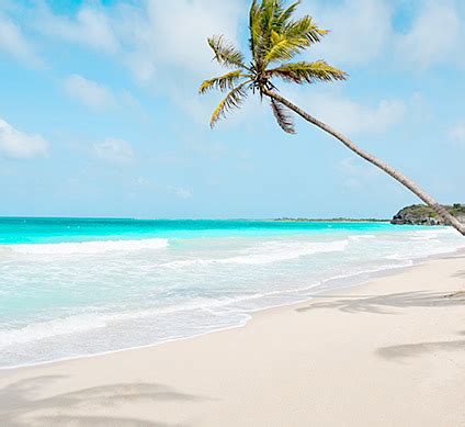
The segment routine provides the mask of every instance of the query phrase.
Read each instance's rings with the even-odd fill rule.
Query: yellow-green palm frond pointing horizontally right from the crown
[[[314,63],[284,64],[277,68],[266,70],[268,77],[280,77],[294,83],[314,83],[316,81],[345,80],[347,74],[324,60]]]

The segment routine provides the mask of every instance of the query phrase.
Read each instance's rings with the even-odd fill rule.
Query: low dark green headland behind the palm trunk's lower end
[[[465,224],[465,204],[454,203],[444,205],[444,209],[461,223]],[[412,204],[404,207],[394,215],[392,224],[412,224],[412,225],[444,225],[442,216],[424,204]]]

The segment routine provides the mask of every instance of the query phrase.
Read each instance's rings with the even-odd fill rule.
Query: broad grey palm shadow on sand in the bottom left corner
[[[206,398],[180,393],[169,386],[148,383],[121,383],[82,389],[52,397],[36,398],[41,387],[64,379],[44,375],[21,380],[0,390],[1,426],[150,426],[172,424],[117,416],[76,415],[86,407],[111,409],[125,403],[200,402]],[[155,409],[154,409],[155,411]],[[175,424],[180,426],[180,424]]]

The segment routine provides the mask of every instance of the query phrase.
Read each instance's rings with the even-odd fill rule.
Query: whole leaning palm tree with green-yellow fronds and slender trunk
[[[262,99],[268,97],[276,122],[284,132],[295,134],[293,116],[290,113],[290,110],[292,110],[307,122],[334,136],[360,157],[390,175],[441,215],[446,224],[451,224],[465,236],[465,225],[412,180],[377,157],[361,149],[340,132],[315,119],[277,93],[273,83],[276,79],[304,85],[344,80],[347,78],[344,71],[330,66],[325,60],[291,61],[314,43],[320,42],[322,36],[328,33],[328,31],[320,29],[311,16],[305,15],[297,20],[293,19],[299,2],[296,1],[285,7],[283,0],[261,0],[260,3],[257,0],[252,1],[249,16],[250,61],[246,61],[246,57],[232,45],[225,42],[223,36],[208,38],[215,59],[222,66],[232,69],[224,76],[205,80],[200,87],[200,93],[206,93],[212,89],[227,92],[212,114],[211,126],[214,127],[218,120],[225,117],[229,111],[240,108],[250,91],[257,92]]]

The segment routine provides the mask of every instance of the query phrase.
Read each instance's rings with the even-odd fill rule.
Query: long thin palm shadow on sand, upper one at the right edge
[[[392,308],[447,307],[465,305],[465,292],[400,292],[387,295],[321,295],[325,301],[297,308],[304,313],[334,308],[345,313],[398,314]]]

